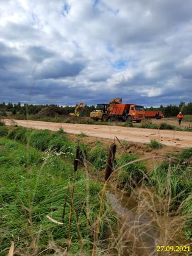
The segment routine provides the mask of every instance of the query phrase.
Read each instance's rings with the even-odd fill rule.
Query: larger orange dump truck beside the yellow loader
[[[135,104],[110,104],[108,116],[112,121],[136,121],[144,119],[144,107]]]

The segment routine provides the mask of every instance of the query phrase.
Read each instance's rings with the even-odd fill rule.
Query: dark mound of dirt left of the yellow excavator
[[[68,116],[68,113],[66,110],[62,107],[44,107],[41,109],[41,111],[38,113],[38,116]]]

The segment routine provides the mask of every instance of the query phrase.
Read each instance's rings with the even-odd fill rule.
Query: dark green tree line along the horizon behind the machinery
[[[65,107],[59,106],[57,104],[46,104],[46,105],[34,105],[34,104],[24,104],[22,105],[21,102],[18,102],[16,104],[12,104],[9,102],[8,104],[5,104],[5,102],[0,103],[0,116],[7,116],[7,112],[11,112],[12,115],[16,114],[22,114],[22,115],[36,115],[38,114],[43,108],[46,107],[58,107],[62,108],[63,113],[69,114],[74,113],[74,107],[71,107],[69,105],[66,105]],[[85,105],[84,112],[82,112],[82,116],[89,116],[90,112],[95,109],[94,105],[88,106]],[[185,104],[185,102],[180,102],[180,104],[177,105],[168,105],[166,107],[163,107],[163,105],[160,105],[160,107],[149,107],[145,108],[146,111],[148,110],[156,110],[161,111],[165,117],[171,117],[171,116],[177,116],[179,112],[182,112],[183,115],[192,115],[192,102],[189,102],[188,104]]]

